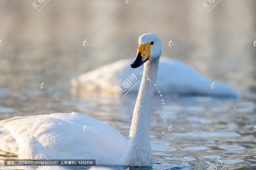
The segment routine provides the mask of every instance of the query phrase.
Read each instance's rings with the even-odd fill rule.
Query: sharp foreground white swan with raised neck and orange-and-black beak
[[[131,68],[144,63],[139,94],[127,140],[89,116],[54,113],[0,121],[0,149],[23,159],[95,159],[101,165],[152,167],[149,120],[162,44],[158,36],[139,37]]]

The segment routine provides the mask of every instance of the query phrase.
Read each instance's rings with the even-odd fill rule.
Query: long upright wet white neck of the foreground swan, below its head
[[[129,134],[128,148],[124,155],[125,165],[152,166],[149,120],[158,72],[159,57],[144,63],[143,77]]]

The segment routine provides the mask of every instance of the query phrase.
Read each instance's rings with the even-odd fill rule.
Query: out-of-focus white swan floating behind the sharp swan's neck
[[[122,59],[112,64],[104,65],[80,75],[77,79],[72,79],[71,84],[75,87],[82,86],[82,88],[88,90],[112,91],[119,94],[116,89],[132,73],[139,80],[142,78],[142,74],[140,74],[143,71],[142,67],[132,69],[125,64],[131,61],[131,59]],[[203,95],[207,92],[205,95],[224,97],[224,94],[226,97],[238,98],[238,93],[232,86],[215,81],[216,88],[211,89],[210,86],[214,80],[207,80],[189,65],[176,59],[161,57],[158,73],[155,92],[160,90],[162,93],[182,95]],[[136,85],[133,90],[138,92],[139,85]]]

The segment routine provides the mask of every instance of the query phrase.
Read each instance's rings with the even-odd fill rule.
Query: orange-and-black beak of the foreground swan
[[[143,63],[145,63],[149,59],[150,47],[151,47],[150,43],[139,44],[137,57],[135,58],[133,63],[131,63],[131,68],[137,68],[143,65]]]

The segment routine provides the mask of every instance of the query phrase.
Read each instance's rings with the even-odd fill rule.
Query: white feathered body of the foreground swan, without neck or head
[[[83,131],[86,124],[88,129]],[[16,152],[9,152],[18,152],[19,158],[96,159],[96,164],[117,164],[128,145],[112,127],[77,113],[15,117],[0,121],[0,125],[2,133],[9,131],[15,139],[5,137],[9,148],[16,146]],[[0,148],[8,151],[2,143]]]

